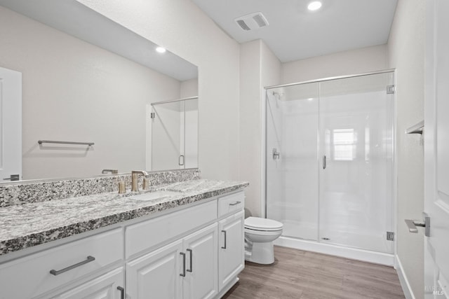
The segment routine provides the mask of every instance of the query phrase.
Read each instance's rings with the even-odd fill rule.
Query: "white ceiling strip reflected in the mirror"
[[[181,57],[156,53],[157,45],[76,0],[0,0],[0,5],[166,74],[178,81],[198,78],[198,68]]]

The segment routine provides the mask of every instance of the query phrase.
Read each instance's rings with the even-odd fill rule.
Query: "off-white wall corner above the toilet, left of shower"
[[[240,47],[240,179],[249,181],[245,206],[264,214],[264,86],[279,84],[281,62],[261,40]]]

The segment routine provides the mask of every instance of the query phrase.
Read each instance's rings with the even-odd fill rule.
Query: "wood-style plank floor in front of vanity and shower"
[[[274,246],[274,265],[246,263],[227,299],[405,298],[393,267]]]

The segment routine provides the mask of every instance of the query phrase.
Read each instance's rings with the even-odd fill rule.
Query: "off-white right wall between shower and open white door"
[[[424,298],[423,235],[408,232],[403,219],[422,218],[423,148],[420,136],[404,131],[424,118],[424,20],[424,0],[399,0],[388,42],[397,81],[397,253],[415,298]]]

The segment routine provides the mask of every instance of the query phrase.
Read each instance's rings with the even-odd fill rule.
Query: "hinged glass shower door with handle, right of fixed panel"
[[[320,83],[320,242],[392,253],[392,76]]]

